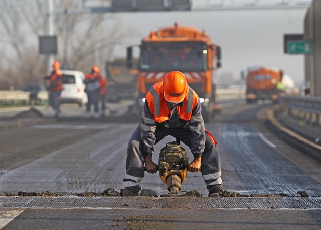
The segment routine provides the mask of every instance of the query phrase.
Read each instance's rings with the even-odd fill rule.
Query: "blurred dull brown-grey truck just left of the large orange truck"
[[[137,63],[137,59],[133,62]],[[106,62],[105,70],[108,81],[108,102],[132,100],[136,92],[137,69],[128,69],[125,58],[116,58]]]

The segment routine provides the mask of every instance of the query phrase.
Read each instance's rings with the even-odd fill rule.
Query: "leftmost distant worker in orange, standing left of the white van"
[[[60,63],[53,62],[53,70],[50,74],[49,87],[49,104],[55,110],[55,117],[59,116],[60,111],[60,94],[62,91],[62,73],[60,70]]]

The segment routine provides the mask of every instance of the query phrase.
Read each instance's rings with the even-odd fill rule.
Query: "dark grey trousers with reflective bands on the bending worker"
[[[126,174],[124,187],[140,191],[140,181],[144,178],[143,142],[140,137],[140,124],[132,133],[127,147]],[[165,128],[157,126],[155,130],[155,145],[166,136],[173,136],[191,148],[191,131],[188,128]],[[205,132],[205,149],[201,158],[201,173],[209,192],[222,186],[221,163],[217,152],[217,146]],[[191,161],[190,161],[191,162]]]

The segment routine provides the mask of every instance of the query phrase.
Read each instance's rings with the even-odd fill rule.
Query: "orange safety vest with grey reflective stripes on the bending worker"
[[[197,105],[198,100],[199,98],[197,94],[189,87],[188,95],[183,100],[183,106],[177,106],[177,114],[179,114],[179,118],[189,121],[192,116],[193,108]],[[146,101],[156,122],[161,123],[169,120],[171,111],[164,98],[163,82],[153,85],[146,95]]]

